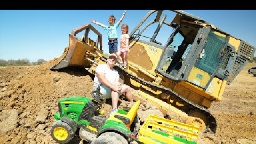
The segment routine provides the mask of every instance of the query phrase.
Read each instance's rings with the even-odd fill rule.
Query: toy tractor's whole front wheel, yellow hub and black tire
[[[75,136],[74,128],[65,122],[58,120],[51,128],[52,139],[58,143],[66,144]]]

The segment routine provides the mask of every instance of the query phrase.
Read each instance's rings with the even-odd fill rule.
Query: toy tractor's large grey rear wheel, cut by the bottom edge
[[[92,144],[128,144],[128,142],[118,133],[105,132],[96,138]]]

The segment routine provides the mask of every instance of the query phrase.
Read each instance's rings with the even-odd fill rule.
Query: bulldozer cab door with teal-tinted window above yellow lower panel
[[[220,67],[220,52],[225,46],[226,35],[210,26],[204,27],[201,34],[196,41],[198,47],[186,61],[184,79],[206,90]]]

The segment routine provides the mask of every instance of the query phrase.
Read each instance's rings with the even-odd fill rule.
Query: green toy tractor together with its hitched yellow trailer
[[[198,138],[199,127],[149,115],[140,128],[140,101],[107,117],[100,112],[106,102],[104,96],[97,90],[91,94],[93,99],[74,96],[58,101],[59,111],[54,114],[57,121],[50,130],[53,140],[68,143],[79,128],[80,138],[91,144],[196,144],[192,139]]]

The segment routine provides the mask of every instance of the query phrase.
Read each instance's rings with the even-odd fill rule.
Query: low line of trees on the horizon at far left
[[[38,65],[46,62],[44,59],[38,59],[36,62],[30,62],[27,58],[18,59],[18,60],[2,60],[0,59],[0,66],[29,66],[29,65]]]

